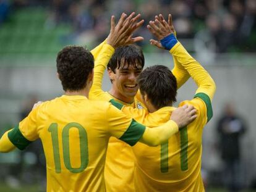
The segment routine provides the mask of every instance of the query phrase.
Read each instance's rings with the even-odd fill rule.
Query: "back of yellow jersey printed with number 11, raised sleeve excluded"
[[[204,191],[200,174],[202,131],[206,123],[203,102],[186,101],[198,111],[198,117],[157,147],[137,143],[135,154],[135,191]],[[140,123],[158,126],[166,122],[174,107],[162,109],[137,119]],[[125,111],[124,111],[125,112]]]

